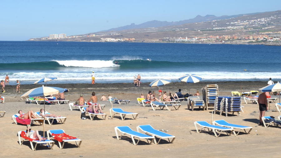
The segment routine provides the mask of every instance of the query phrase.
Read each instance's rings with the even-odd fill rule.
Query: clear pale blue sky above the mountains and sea
[[[197,15],[269,12],[280,10],[280,6],[280,0],[0,0],[0,41],[25,41],[60,33],[79,35]]]

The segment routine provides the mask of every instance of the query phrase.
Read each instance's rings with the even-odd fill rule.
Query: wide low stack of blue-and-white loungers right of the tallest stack
[[[229,112],[232,112],[232,114],[237,112],[240,116],[240,111],[242,111],[241,97],[216,97],[214,112],[216,111],[219,111],[219,115],[223,112],[225,112],[225,116],[227,116]]]

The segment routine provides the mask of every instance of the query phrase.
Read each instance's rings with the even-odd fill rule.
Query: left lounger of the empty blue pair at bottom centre
[[[146,139],[148,144],[151,144],[155,140],[154,136],[148,136],[148,135],[133,131],[129,126],[117,126],[114,129],[115,129],[115,133],[116,133],[116,138],[118,140],[120,140],[121,137],[126,134],[126,135],[131,136],[134,145],[138,145],[138,143],[141,139]],[[122,133],[120,137],[118,136],[118,131],[120,131]],[[135,142],[135,138],[139,138],[139,140],[137,142]],[[149,142],[148,139],[151,139],[151,141]]]

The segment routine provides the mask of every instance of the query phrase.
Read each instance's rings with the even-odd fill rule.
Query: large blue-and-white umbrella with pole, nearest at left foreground
[[[43,98],[45,100],[45,96],[59,94],[59,93],[68,92],[68,91],[69,90],[66,88],[44,87],[44,85],[42,85],[42,87],[33,88],[33,89],[27,91],[26,93],[21,95],[20,98],[27,99],[27,98],[35,97],[35,96],[43,96]],[[43,101],[43,102],[44,102],[44,111],[45,111],[45,101]],[[45,119],[45,116],[44,116],[44,119]],[[44,131],[43,132],[44,132],[43,136],[45,137],[45,121],[44,121]]]

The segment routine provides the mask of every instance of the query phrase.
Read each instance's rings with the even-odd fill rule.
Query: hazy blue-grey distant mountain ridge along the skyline
[[[231,15],[231,16],[223,15],[220,17],[214,16],[214,15],[206,15],[206,16],[202,17],[200,15],[197,15],[195,18],[188,19],[188,20],[182,20],[182,21],[178,21],[178,22],[152,20],[152,21],[144,22],[144,23],[141,23],[138,25],[136,25],[135,23],[132,23],[131,25],[111,28],[108,30],[100,31],[100,32],[122,31],[122,30],[128,30],[128,29],[139,29],[139,28],[148,28],[148,27],[164,27],[164,26],[182,25],[182,24],[186,24],[186,23],[205,22],[205,21],[211,21],[211,20],[223,20],[223,19],[229,19],[229,18],[233,18],[233,17],[240,17],[243,15],[254,15],[254,14],[259,14],[259,13],[261,13],[261,12],[238,14],[238,15]]]

